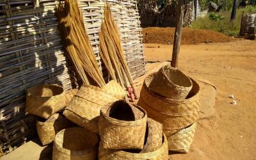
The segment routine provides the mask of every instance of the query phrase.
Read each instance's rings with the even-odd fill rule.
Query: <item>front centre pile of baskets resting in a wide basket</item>
[[[162,125],[124,100],[100,109],[99,134],[99,159],[168,159]]]

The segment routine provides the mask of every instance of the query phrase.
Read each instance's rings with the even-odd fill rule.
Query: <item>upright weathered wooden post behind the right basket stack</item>
[[[180,52],[180,41],[181,41],[181,35],[182,35],[184,9],[185,9],[185,0],[179,0],[177,22],[176,22],[176,28],[175,28],[173,50],[172,50],[172,63],[171,63],[172,67],[178,67],[178,57]]]

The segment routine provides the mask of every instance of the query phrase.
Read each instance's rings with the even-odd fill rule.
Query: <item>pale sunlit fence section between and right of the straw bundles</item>
[[[104,5],[107,1],[78,0],[79,7],[83,12],[87,33],[100,65],[99,30],[104,17]],[[118,25],[122,47],[131,75],[133,78],[139,77],[145,72],[145,63],[137,1],[111,0],[108,3],[111,4],[111,11]],[[105,68],[103,67],[102,70],[104,72]]]

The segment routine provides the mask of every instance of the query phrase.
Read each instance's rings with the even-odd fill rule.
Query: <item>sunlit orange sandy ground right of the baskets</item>
[[[144,49],[149,70],[159,64],[153,61],[171,60],[172,45],[144,44]],[[216,85],[216,113],[199,120],[188,154],[170,158],[256,159],[256,41],[181,45],[179,68]]]

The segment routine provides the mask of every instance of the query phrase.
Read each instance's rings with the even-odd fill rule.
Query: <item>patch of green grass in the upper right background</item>
[[[220,12],[218,15],[216,13],[208,13],[208,16],[196,19],[191,27],[196,29],[210,29],[228,36],[238,36],[243,11],[244,14],[256,13],[256,8],[254,6],[240,8],[237,10],[236,19],[232,22],[230,22],[231,11]]]

